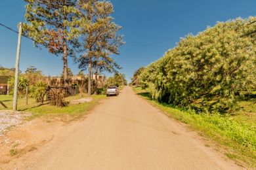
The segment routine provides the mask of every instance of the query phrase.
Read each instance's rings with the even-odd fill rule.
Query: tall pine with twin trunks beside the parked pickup
[[[113,72],[119,69],[119,65],[110,55],[119,54],[119,46],[124,42],[121,36],[116,35],[121,27],[116,25],[110,16],[114,11],[112,3],[80,0],[78,6],[87,23],[82,22],[80,25],[84,54],[77,59],[77,62],[80,69],[89,70],[88,94],[91,95],[92,69],[95,68],[96,78],[99,71]]]

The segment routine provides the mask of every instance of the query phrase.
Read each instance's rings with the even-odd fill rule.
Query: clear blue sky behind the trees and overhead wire
[[[120,34],[126,42],[121,55],[115,57],[123,67],[127,80],[141,66],[161,58],[173,48],[181,37],[196,34],[208,25],[237,17],[255,16],[255,0],[112,0],[115,22],[123,27]],[[23,21],[23,1],[3,1],[0,6],[0,23],[17,29]],[[17,35],[0,27],[0,64],[14,67]],[[76,74],[77,65],[69,60],[69,67]],[[47,50],[34,48],[32,41],[23,38],[20,54],[20,69],[33,65],[45,75],[60,75],[62,60]],[[108,74],[106,74],[108,75]]]

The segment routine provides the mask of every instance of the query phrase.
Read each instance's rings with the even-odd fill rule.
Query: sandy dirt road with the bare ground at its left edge
[[[9,137],[26,144],[0,147],[19,149],[0,155],[2,169],[242,169],[129,87],[80,122],[34,120],[18,131]]]

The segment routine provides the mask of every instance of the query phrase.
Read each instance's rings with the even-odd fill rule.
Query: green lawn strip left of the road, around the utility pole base
[[[45,114],[70,114],[70,115],[83,115],[88,112],[88,110],[95,107],[98,104],[100,99],[103,99],[105,95],[92,95],[93,101],[89,103],[81,103],[75,105],[68,105],[68,107],[55,107],[49,105],[48,102],[44,104],[36,103],[35,99],[29,99],[28,104],[26,105],[26,99],[18,99],[18,110],[23,112],[32,112],[33,116],[42,116]],[[72,101],[73,99],[79,99],[78,95],[72,97],[66,97],[65,101]],[[12,97],[10,95],[0,95],[0,100],[7,105],[7,109],[12,109]],[[0,110],[4,107],[0,106]],[[7,110],[5,109],[5,110]]]

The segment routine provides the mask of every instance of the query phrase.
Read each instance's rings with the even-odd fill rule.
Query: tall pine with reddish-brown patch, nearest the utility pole
[[[77,0],[26,1],[25,34],[35,39],[35,46],[46,46],[49,52],[62,54],[64,81],[68,85],[68,56],[74,56],[77,46],[77,25],[81,22]]]

